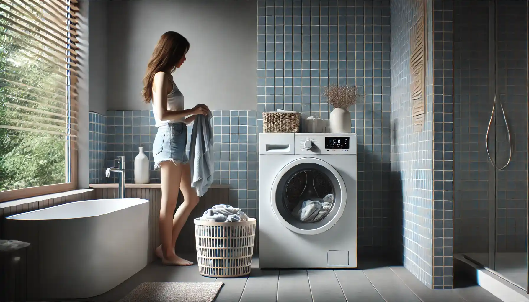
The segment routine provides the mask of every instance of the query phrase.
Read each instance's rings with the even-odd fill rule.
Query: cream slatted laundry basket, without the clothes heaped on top
[[[256,218],[240,222],[208,222],[196,218],[198,271],[202,276],[229,278],[250,273]]]

